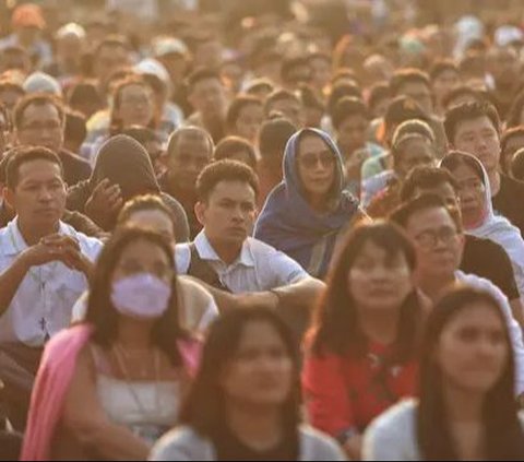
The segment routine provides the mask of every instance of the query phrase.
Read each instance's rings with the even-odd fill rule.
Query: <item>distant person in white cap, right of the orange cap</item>
[[[69,23],[58,29],[55,38],[55,60],[45,71],[67,83],[81,72],[82,55],[86,46],[85,29],[76,23]]]

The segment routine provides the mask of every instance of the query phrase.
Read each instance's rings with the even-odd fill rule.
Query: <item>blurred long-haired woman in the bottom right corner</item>
[[[433,308],[417,401],[379,417],[366,460],[524,460],[524,416],[514,400],[507,322],[489,294],[458,287]]]

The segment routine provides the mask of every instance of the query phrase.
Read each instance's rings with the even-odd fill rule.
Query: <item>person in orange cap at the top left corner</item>
[[[44,67],[51,62],[50,45],[40,36],[46,27],[41,8],[34,3],[16,7],[11,17],[13,33],[0,40],[0,49],[20,46],[26,49],[37,66]]]

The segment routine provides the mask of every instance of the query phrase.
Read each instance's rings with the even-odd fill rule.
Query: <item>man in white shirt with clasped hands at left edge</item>
[[[69,325],[102,242],[60,221],[67,192],[52,151],[14,154],[3,193],[16,217],[0,230],[0,379],[31,388],[41,348]]]

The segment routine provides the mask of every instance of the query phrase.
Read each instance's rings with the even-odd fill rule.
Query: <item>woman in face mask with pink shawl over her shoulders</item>
[[[180,328],[172,248],[117,233],[100,253],[85,322],[46,347],[23,460],[146,460],[178,423],[199,345]]]

